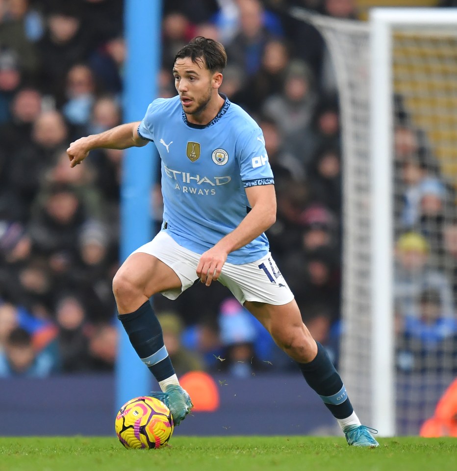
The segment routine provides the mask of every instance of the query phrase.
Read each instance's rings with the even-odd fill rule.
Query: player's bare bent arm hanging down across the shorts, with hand
[[[238,227],[203,253],[197,267],[200,281],[209,286],[217,280],[230,252],[244,247],[270,228],[276,221],[275,185],[257,185],[246,188],[251,211]]]

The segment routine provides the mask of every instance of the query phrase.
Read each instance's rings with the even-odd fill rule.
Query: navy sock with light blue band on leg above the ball
[[[118,314],[118,318],[136,353],[155,379],[163,381],[173,376],[175,369],[163,344],[162,327],[149,300],[133,313]]]

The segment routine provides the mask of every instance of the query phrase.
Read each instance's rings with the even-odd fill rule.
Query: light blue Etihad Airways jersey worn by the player
[[[160,154],[163,230],[193,252],[203,254],[240,224],[250,210],[246,187],[274,183],[262,131],[227,98],[206,126],[187,122],[179,96],[154,100],[138,134]],[[268,252],[262,234],[227,261],[254,262]]]

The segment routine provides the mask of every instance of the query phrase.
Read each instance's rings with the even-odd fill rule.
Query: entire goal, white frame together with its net
[[[340,372],[386,436],[418,434],[457,372],[455,10],[292,10],[326,40],[340,97]]]

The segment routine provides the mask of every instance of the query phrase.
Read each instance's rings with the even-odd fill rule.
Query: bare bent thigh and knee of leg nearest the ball
[[[137,252],[121,265],[113,287],[139,290],[150,297],[160,291],[181,288],[181,280],[172,268],[157,257]]]

